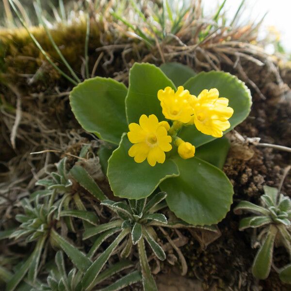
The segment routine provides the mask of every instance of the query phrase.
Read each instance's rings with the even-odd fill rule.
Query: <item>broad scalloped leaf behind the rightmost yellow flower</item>
[[[250,112],[252,105],[250,90],[242,81],[229,73],[222,71],[201,72],[189,79],[184,84],[184,88],[195,96],[198,96],[204,89],[217,88],[220,97],[229,99],[229,106],[233,108],[234,113],[229,119],[230,128],[224,133],[240,124]],[[215,137],[198,131],[194,125],[184,127],[178,136],[196,147],[215,139]]]

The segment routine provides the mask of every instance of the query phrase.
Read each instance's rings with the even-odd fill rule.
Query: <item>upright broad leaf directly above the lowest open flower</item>
[[[176,89],[160,68],[135,63],[129,71],[129,90],[125,99],[128,123],[138,122],[142,114],[155,114],[159,121],[165,120],[158,91],[167,86]]]

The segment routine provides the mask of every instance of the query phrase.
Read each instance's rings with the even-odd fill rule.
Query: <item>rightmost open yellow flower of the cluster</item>
[[[228,99],[219,98],[219,92],[214,88],[209,91],[203,90],[191,102],[194,115],[189,124],[195,124],[204,134],[222,137],[223,131],[230,127],[228,119],[233,114],[233,109],[227,107]]]

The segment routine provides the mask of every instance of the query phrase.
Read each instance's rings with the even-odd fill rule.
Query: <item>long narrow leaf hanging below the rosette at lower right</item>
[[[266,279],[270,273],[276,233],[277,228],[271,225],[270,231],[254,259],[252,272],[257,279]]]

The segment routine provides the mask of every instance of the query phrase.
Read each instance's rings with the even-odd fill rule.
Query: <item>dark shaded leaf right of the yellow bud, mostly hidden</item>
[[[195,151],[195,157],[209,162],[213,166],[222,170],[226,162],[229,147],[230,143],[228,139],[223,136],[222,138],[217,138],[206,145],[199,146]]]

